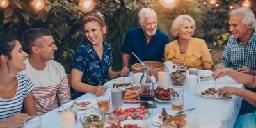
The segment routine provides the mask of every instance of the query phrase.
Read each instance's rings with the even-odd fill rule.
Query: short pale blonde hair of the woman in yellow
[[[180,26],[181,26],[181,24],[184,20],[188,20],[189,22],[191,22],[192,27],[193,27],[194,32],[195,32],[195,29],[196,29],[195,20],[189,15],[179,15],[172,22],[172,27],[171,27],[170,33],[172,34],[173,37],[178,36],[177,30],[180,28]]]

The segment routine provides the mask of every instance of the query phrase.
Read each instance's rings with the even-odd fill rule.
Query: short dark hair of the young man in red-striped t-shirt
[[[48,29],[44,28],[31,28],[28,29],[22,38],[23,49],[28,54],[31,54],[31,47],[41,46],[40,42],[35,42],[38,38],[42,36],[51,36],[52,33]]]

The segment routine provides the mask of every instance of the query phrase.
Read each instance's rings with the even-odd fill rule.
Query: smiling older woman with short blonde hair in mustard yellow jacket
[[[191,37],[195,29],[195,20],[189,15],[179,15],[173,20],[170,32],[177,40],[165,45],[165,61],[186,64],[188,68],[211,68],[213,61],[207,44],[202,39]]]

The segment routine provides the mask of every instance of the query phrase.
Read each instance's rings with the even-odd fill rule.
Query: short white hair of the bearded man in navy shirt
[[[151,8],[141,8],[138,14],[139,24],[144,22],[145,17],[156,17],[156,12]]]

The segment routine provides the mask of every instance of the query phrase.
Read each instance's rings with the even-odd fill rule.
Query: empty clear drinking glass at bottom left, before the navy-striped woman
[[[41,117],[31,116],[24,120],[24,128],[41,128]]]

